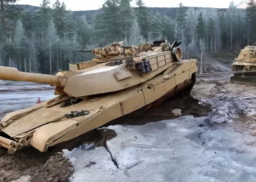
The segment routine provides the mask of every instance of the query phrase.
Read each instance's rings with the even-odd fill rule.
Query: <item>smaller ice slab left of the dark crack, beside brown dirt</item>
[[[71,159],[75,158],[75,173],[69,178],[69,181],[133,181],[125,171],[114,165],[105,147],[89,151],[75,149],[69,155]]]

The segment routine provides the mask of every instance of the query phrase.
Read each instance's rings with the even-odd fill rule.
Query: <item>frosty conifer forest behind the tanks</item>
[[[181,41],[184,58],[201,52],[239,52],[256,41],[256,1],[246,9],[230,2],[228,9],[192,8],[179,4],[176,17],[148,10],[143,0],[105,0],[89,20],[72,15],[59,0],[42,0],[30,12],[17,0],[0,0],[0,65],[20,71],[56,74],[69,63],[93,58],[73,50],[92,50],[116,41],[127,45],[167,39]],[[135,0],[134,0],[135,1]],[[51,6],[52,5],[52,6]]]

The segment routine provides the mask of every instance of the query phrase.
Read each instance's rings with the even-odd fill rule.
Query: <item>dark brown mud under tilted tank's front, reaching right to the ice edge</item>
[[[84,146],[87,146],[88,143],[93,144],[94,148],[105,146],[106,141],[114,137],[116,137],[116,132],[113,130],[93,130],[86,135],[75,138],[75,140],[61,143],[47,153],[26,148],[14,155],[8,155],[7,151],[0,149],[0,181],[16,181],[23,176],[30,176],[31,182],[68,181],[74,168],[72,163],[64,158],[62,149],[80,147],[80,149],[86,150]],[[87,165],[89,167],[89,165],[94,164]]]

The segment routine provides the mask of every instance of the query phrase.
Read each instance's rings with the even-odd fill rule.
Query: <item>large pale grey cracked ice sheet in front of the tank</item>
[[[250,145],[253,137],[236,132],[227,124],[207,120],[207,117],[183,116],[142,126],[110,126],[117,132],[116,138],[107,142],[110,154],[104,147],[75,150],[71,155],[76,158],[72,178],[256,181],[256,149]],[[90,161],[97,165],[85,167]]]

